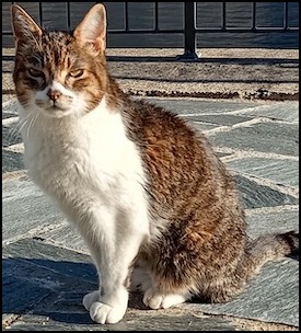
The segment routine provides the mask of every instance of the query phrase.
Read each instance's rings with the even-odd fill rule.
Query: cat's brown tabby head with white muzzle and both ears
[[[106,91],[106,13],[95,4],[73,32],[46,32],[12,5],[13,80],[20,103],[53,117],[82,115]]]

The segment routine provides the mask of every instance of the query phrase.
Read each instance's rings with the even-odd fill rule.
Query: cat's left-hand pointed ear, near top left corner
[[[35,21],[20,7],[11,7],[12,32],[16,42],[30,42],[42,35],[42,28]]]

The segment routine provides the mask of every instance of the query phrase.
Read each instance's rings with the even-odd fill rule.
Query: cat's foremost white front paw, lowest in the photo
[[[96,301],[90,308],[90,317],[100,324],[115,324],[124,318],[126,309],[127,307],[120,305],[111,307]]]

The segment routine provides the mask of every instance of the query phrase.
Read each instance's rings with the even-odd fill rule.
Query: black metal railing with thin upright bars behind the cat
[[[18,3],[18,2],[5,2],[5,4],[10,3]],[[34,3],[34,2],[32,2]],[[35,2],[36,3],[36,2]],[[44,23],[44,4],[46,2],[38,2],[38,21],[43,25]],[[48,2],[49,3],[49,2]],[[55,2],[54,2],[55,3]],[[62,4],[62,2],[60,2]],[[71,30],[71,2],[65,2],[66,4],[66,30]],[[97,3],[97,2],[96,2]],[[131,34],[182,34],[184,37],[184,53],[178,58],[180,59],[197,59],[197,38],[200,34],[207,33],[291,33],[298,32],[299,26],[290,26],[289,25],[289,3],[291,2],[282,2],[282,24],[281,26],[258,26],[257,24],[257,2],[251,2],[251,22],[250,27],[231,27],[228,25],[228,18],[227,18],[227,9],[228,4],[230,5],[231,2],[221,2],[221,15],[220,15],[220,26],[218,27],[198,27],[197,26],[197,4],[198,2],[182,2],[183,3],[183,26],[178,28],[161,28],[159,24],[159,13],[160,2],[151,2],[153,3],[153,28],[130,28],[129,24],[129,2],[124,3],[124,27],[123,28],[109,28],[108,35],[131,35]],[[134,3],[134,2],[132,2]],[[131,5],[132,5],[131,3]],[[4,4],[4,2],[3,2]],[[3,8],[2,4],[2,8]],[[22,3],[23,4],[23,3]],[[120,2],[119,2],[120,4]],[[73,3],[72,3],[73,5]],[[2,19],[3,19],[3,10],[2,10]],[[55,18],[54,18],[55,19]],[[56,22],[56,20],[54,20]],[[2,31],[2,39],[3,36],[12,36],[12,32],[9,30]],[[123,39],[120,38],[118,42],[118,47],[123,46]]]

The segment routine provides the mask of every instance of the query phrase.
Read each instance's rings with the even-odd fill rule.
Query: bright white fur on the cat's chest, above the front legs
[[[141,159],[118,112],[102,102],[82,117],[38,114],[26,124],[31,127],[25,125],[22,136],[30,174],[60,206],[100,203],[147,210]]]

